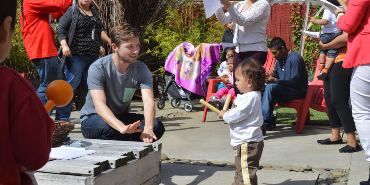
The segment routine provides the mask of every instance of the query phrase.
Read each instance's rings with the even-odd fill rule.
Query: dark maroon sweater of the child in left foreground
[[[0,79],[0,184],[32,185],[24,168],[46,164],[55,124],[31,83],[4,66]]]

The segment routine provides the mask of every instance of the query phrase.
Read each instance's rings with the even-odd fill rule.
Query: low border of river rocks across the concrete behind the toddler
[[[168,158],[166,154],[162,154],[161,163],[174,163],[174,164],[191,164],[201,166],[216,166],[224,168],[235,168],[235,162],[227,161],[207,161],[202,160],[190,160],[190,159],[178,159]],[[347,169],[333,169],[333,168],[314,168],[309,165],[304,166],[291,166],[291,165],[270,165],[260,164],[260,170],[276,170],[276,171],[295,171],[302,173],[319,173],[319,177],[316,180],[315,185],[346,185],[348,181]]]

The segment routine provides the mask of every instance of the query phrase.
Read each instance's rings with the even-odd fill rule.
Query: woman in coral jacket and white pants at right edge
[[[338,9],[335,14],[338,27],[348,33],[343,67],[353,67],[350,87],[352,115],[365,158],[370,162],[370,0],[351,0],[345,13]],[[360,185],[370,185],[370,176]]]

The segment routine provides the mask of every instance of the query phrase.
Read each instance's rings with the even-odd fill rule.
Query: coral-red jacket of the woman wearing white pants
[[[348,34],[344,68],[370,63],[370,0],[350,0],[338,27]]]

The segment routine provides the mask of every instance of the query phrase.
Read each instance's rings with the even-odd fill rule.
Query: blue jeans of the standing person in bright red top
[[[35,65],[38,75],[40,75],[40,87],[37,89],[37,95],[41,101],[46,104],[46,88],[54,80],[61,80],[62,71],[60,66],[60,60],[57,56],[46,57],[46,58],[34,58],[32,59],[33,65]],[[50,111],[51,114],[53,110]]]

